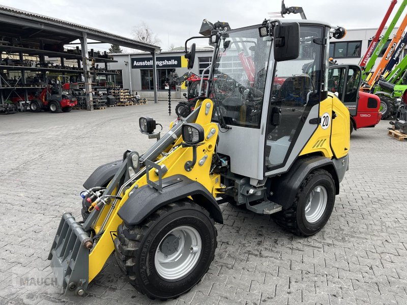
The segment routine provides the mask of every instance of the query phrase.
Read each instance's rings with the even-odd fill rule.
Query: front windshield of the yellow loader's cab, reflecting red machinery
[[[219,103],[227,125],[259,128],[271,40],[259,37],[258,26],[226,36],[214,61],[211,97]]]

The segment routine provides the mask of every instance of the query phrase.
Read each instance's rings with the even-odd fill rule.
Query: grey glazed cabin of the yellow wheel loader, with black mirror
[[[309,120],[327,97],[330,29],[282,20],[219,35],[207,96],[219,105],[217,151],[230,157],[232,173],[261,180],[286,171],[299,155],[318,126]]]

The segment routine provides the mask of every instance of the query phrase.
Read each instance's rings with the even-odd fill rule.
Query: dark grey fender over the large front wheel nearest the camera
[[[196,204],[206,208],[217,223],[223,224],[222,212],[212,194],[199,182],[184,175],[162,179],[162,192],[150,185],[133,189],[118,215],[126,225],[137,225],[161,206],[188,196],[191,196]]]

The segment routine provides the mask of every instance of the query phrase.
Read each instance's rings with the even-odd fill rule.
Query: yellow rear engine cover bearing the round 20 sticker
[[[333,112],[336,115],[335,118],[333,118]],[[300,156],[322,154],[329,159],[340,159],[347,155],[351,142],[349,110],[335,95],[332,95],[319,104],[319,117],[324,113],[329,113],[331,117],[328,128],[323,129],[319,124]]]

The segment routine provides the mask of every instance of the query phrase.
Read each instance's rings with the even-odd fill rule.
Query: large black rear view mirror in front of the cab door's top
[[[300,25],[283,23],[274,27],[274,59],[276,62],[292,60],[300,55]]]

